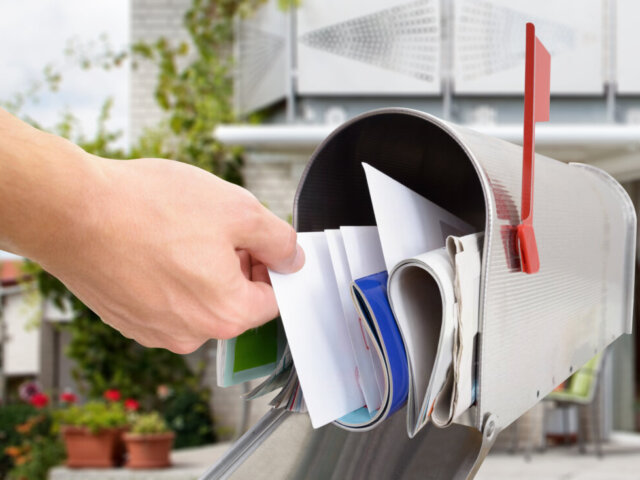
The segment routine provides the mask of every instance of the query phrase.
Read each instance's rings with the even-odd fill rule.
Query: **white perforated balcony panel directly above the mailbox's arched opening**
[[[309,0],[298,10],[303,94],[438,93],[438,0]]]

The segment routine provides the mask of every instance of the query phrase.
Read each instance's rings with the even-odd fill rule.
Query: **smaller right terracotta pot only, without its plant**
[[[169,453],[175,433],[125,433],[128,468],[166,468],[171,466]]]

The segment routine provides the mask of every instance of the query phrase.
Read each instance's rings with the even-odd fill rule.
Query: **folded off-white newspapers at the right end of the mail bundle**
[[[475,401],[482,234],[449,237],[447,248],[400,262],[389,276],[389,300],[407,351],[407,432],[431,418],[449,425]]]

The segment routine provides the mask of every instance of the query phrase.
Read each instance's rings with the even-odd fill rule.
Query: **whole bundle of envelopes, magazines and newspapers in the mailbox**
[[[253,394],[284,385],[274,404],[307,409],[314,427],[358,431],[408,404],[414,436],[475,402],[482,234],[362,165],[376,225],[299,233],[304,267],[270,272],[287,346]],[[229,345],[220,344],[219,369],[223,349],[232,362]]]

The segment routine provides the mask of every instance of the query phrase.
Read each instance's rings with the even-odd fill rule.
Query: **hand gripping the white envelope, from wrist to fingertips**
[[[99,180],[80,218],[39,257],[104,322],[143,345],[188,353],[277,315],[266,266],[288,273],[304,263],[289,224],[193,166],[89,161]]]

